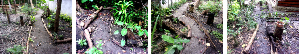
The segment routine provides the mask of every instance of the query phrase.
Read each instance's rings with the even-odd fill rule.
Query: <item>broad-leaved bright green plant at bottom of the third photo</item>
[[[162,39],[164,40],[164,41],[166,41],[166,42],[168,42],[168,43],[171,43],[171,44],[173,44],[172,46],[171,45],[168,45],[167,47],[165,47],[166,49],[165,49],[165,53],[164,54],[173,54],[175,51],[176,51],[176,49],[178,49],[178,50],[182,50],[183,49],[183,47],[182,47],[182,45],[180,45],[182,42],[185,42],[185,43],[188,43],[190,40],[188,40],[188,39],[181,39],[181,38],[179,38],[179,39],[173,39],[173,38],[171,38],[170,36],[166,36],[166,35],[162,35]]]

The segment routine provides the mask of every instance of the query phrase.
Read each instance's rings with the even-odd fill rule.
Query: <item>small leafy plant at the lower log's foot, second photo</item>
[[[103,54],[104,52],[100,50],[100,49],[103,49],[101,47],[103,45],[103,43],[101,43],[102,40],[96,41],[96,42],[99,43],[99,44],[96,45],[96,47],[92,47],[92,48],[88,49],[85,53],[87,53],[87,54]]]

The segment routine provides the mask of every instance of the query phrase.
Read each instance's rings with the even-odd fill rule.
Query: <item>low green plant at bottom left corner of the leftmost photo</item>
[[[26,50],[23,50],[25,49],[25,47],[21,47],[21,45],[14,45],[13,48],[7,48],[7,52],[10,52],[11,54],[23,54],[22,51],[26,51]]]

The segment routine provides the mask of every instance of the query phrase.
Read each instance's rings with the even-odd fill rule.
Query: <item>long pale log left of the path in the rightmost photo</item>
[[[259,29],[259,25],[257,25],[257,27],[255,28],[255,31],[253,32],[253,35],[250,38],[250,41],[248,42],[247,46],[244,49],[244,53],[249,53],[249,50],[251,48],[251,45],[254,41],[254,37],[257,35],[257,30]]]

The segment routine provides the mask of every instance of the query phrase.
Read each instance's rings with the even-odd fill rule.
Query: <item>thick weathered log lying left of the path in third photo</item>
[[[174,33],[178,34],[179,36],[188,37],[187,32],[183,32],[183,31],[177,29],[176,27],[171,25],[170,22],[163,21],[162,26],[165,28],[169,28],[170,29],[169,31],[174,32]]]

